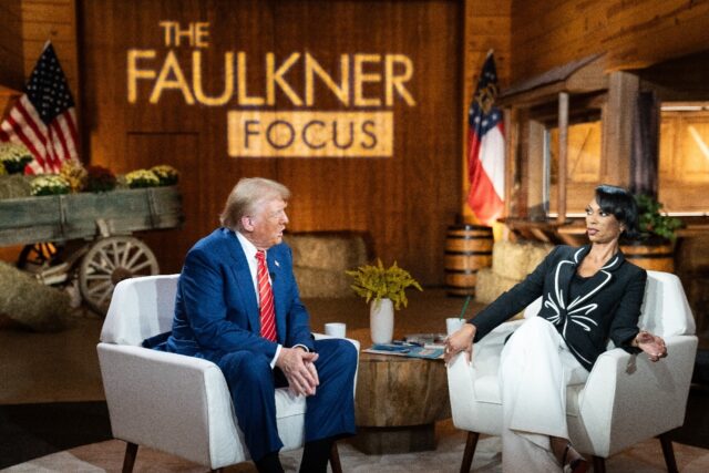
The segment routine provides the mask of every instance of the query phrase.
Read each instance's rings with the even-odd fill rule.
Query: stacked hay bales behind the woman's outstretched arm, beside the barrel
[[[537,241],[496,241],[492,267],[477,271],[475,300],[483,304],[495,300],[532,273],[552,248],[552,244]]]

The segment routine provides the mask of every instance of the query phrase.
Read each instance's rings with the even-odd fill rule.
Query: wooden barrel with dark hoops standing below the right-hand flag
[[[455,225],[445,237],[445,287],[451,296],[474,296],[477,270],[492,265],[492,228]]]

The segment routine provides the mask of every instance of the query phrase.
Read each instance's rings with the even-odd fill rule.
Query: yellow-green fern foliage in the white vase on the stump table
[[[376,266],[363,265],[345,273],[353,279],[351,288],[358,296],[363,297],[368,304],[372,298],[376,301],[391,299],[394,304],[394,309],[399,309],[401,305],[407,307],[409,304],[404,292],[407,288],[413,286],[419,290],[423,290],[409,271],[397,266],[397,261],[391,267],[384,268],[381,259],[377,259]]]

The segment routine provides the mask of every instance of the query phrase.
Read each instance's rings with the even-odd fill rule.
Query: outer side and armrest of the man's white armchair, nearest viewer
[[[213,467],[248,457],[236,418],[224,415],[232,398],[216,364],[113,343],[99,343],[97,352],[115,438]]]

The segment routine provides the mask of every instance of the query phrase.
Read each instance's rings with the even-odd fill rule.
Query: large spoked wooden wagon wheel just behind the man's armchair
[[[115,285],[123,279],[160,273],[151,249],[137,238],[115,236],[97,240],[79,267],[79,287],[97,313],[106,313]]]

